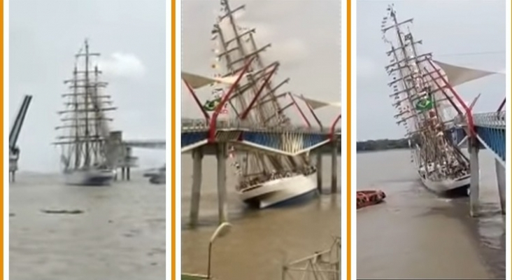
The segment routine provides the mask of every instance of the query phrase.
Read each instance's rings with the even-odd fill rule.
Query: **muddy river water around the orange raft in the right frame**
[[[381,189],[385,203],[357,211],[358,279],[504,279],[505,220],[495,163],[481,151],[481,217],[469,199],[422,187],[408,151],[357,154],[357,189]]]

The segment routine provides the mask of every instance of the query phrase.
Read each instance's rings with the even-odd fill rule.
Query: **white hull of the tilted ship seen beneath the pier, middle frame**
[[[267,181],[262,186],[239,191],[239,195],[243,202],[263,209],[280,202],[292,200],[301,195],[312,193],[317,189],[316,183],[315,172],[308,176],[297,175]]]

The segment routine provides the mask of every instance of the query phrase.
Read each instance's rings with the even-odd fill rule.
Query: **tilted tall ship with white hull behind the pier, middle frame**
[[[220,15],[211,37],[215,44],[214,76],[236,76],[254,58],[222,109],[222,118],[225,121],[237,120],[252,127],[289,127],[292,123],[286,110],[292,104],[285,103],[288,92],[283,92],[281,87],[290,79],[275,81],[279,62],[269,63],[263,58],[271,44],[257,45],[254,37],[256,30],[242,27],[236,22],[234,14],[245,6],[232,9],[227,0],[220,3]],[[213,102],[206,102],[205,109],[215,108],[215,104],[218,104],[215,100],[220,100],[222,95],[223,88],[214,86]],[[248,108],[252,109],[246,111]],[[243,113],[246,113],[245,118],[241,118]],[[270,207],[316,190],[316,168],[306,154],[269,155],[232,147],[229,158],[236,172],[236,190],[241,200],[254,207]]]

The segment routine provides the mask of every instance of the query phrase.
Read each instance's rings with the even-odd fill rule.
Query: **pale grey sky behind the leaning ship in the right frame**
[[[420,50],[434,59],[489,71],[506,68],[505,1],[357,1],[357,140],[400,138],[404,127],[394,122],[389,63],[382,41],[381,21],[389,3],[394,3],[399,21],[414,18],[412,31],[423,40]],[[490,55],[453,55],[474,52]],[[471,102],[478,93],[474,111],[495,111],[505,97],[505,77],[490,76],[455,88]]]

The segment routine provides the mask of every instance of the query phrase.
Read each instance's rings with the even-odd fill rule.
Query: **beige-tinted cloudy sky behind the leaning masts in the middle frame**
[[[280,87],[281,92],[340,102],[340,1],[231,0],[229,3],[232,8],[246,4],[238,22],[243,27],[256,28],[255,39],[259,46],[272,43],[262,57],[266,62],[273,61],[271,59],[281,62],[276,77],[279,82],[290,77],[290,83]],[[183,71],[213,76],[213,41],[210,38],[219,10],[220,1],[182,2]],[[198,94],[204,101],[210,92],[202,90]],[[183,116],[200,118],[201,111],[185,86],[182,97]],[[314,123],[306,106],[302,109]],[[296,110],[290,108],[288,112],[292,120],[301,122]],[[327,125],[339,115],[339,109],[325,107],[317,113]]]

